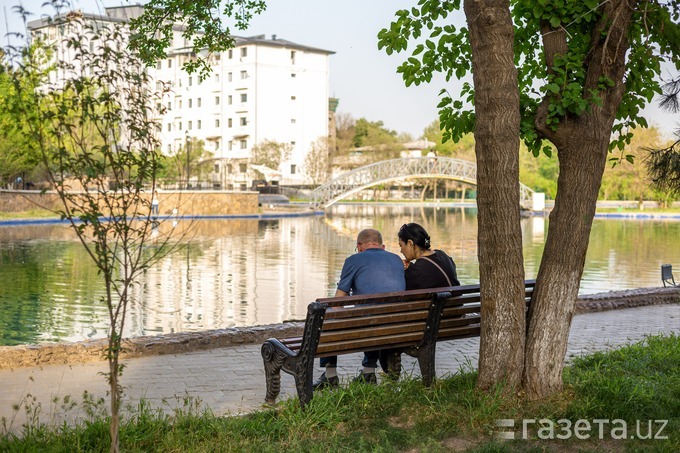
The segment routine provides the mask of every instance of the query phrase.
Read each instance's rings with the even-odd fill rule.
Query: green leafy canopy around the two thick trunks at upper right
[[[599,92],[612,85],[607,78],[594,86],[586,81],[591,40],[606,39],[606,30],[595,31],[601,18],[602,4],[598,0],[549,1],[511,0],[515,24],[515,63],[520,86],[521,138],[538,155],[542,150],[550,155],[551,147],[535,127],[536,113],[545,99],[550,102],[547,126],[556,130],[563,121],[576,118],[599,105]],[[646,127],[641,116],[646,103],[661,92],[659,74],[664,61],[680,69],[680,2],[639,1],[628,37],[631,51],[625,75],[626,91],[617,112],[611,149],[623,149],[630,143],[635,125]],[[378,34],[378,46],[388,54],[405,52],[415,47],[398,68],[407,86],[430,82],[435,73],[446,80],[463,79],[471,71],[471,48],[468,30],[447,22],[461,1],[420,0],[410,10],[396,12],[389,28]],[[556,55],[551,67],[545,63],[542,32],[564,33],[566,52]],[[598,64],[598,62],[592,62]],[[463,83],[460,96],[446,90],[440,92],[439,103],[444,139],[460,140],[474,130],[475,115],[470,107],[474,88]]]

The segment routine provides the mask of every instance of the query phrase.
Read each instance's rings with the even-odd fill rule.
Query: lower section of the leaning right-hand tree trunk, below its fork
[[[566,149],[558,150],[559,189],[527,335],[524,385],[530,399],[562,389],[567,340],[609,144],[609,136],[599,142],[582,137],[575,134]]]

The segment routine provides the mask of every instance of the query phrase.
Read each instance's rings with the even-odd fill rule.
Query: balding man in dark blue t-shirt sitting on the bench
[[[403,291],[404,264],[399,256],[385,250],[382,234],[374,229],[362,230],[357,236],[356,253],[345,260],[335,297]],[[376,384],[375,369],[378,351],[364,353],[364,369],[354,382]],[[334,388],[340,383],[337,374],[338,357],[322,357],[319,365],[326,371],[314,382],[314,390]]]

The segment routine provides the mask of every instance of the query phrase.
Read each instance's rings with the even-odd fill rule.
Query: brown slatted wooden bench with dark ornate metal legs
[[[534,280],[525,282],[527,310]],[[307,307],[301,337],[270,338],[262,345],[266,402],[281,390],[281,370],[292,374],[304,407],[313,397],[314,359],[403,348],[418,360],[426,386],[435,377],[437,341],[479,336],[479,285],[317,299]],[[390,369],[398,364],[391,357]]]

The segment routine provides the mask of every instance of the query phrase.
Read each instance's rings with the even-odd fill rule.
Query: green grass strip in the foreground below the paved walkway
[[[475,388],[466,371],[424,388],[403,379],[351,384],[239,417],[216,417],[185,401],[173,416],[141,404],[121,427],[124,451],[680,451],[680,336],[650,336],[576,358],[564,391],[530,402],[499,386]],[[79,427],[48,429],[36,414],[23,433],[0,434],[0,451],[104,451],[102,401]],[[23,410],[30,411],[30,404]],[[499,423],[500,421],[500,423]],[[502,425],[502,426],[499,426]],[[513,438],[514,440],[502,440]]]

